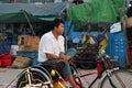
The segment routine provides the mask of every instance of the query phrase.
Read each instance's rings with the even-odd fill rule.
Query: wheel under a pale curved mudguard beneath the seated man
[[[31,68],[30,69],[30,76],[31,76],[31,84],[33,84],[33,85],[51,80],[45,73],[43,73],[42,70],[40,70],[37,68]],[[29,85],[28,72],[24,70],[20,75],[20,77],[16,81],[16,88],[28,88],[28,87],[25,87],[26,85]],[[48,84],[48,85],[46,85],[45,88],[52,88],[52,85]]]

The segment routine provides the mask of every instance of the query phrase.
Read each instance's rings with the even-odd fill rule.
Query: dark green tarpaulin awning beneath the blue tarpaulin
[[[28,13],[24,10],[20,10],[19,12],[3,12],[0,13],[0,23],[22,23],[22,22],[41,22],[43,20],[37,16]]]

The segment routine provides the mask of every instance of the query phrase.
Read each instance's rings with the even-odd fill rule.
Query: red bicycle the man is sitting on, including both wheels
[[[97,59],[96,73],[81,75],[74,65],[72,67],[74,70],[73,74],[75,74],[75,81],[80,88],[84,88],[81,77],[94,74],[97,74],[97,77],[90,82],[88,88],[92,88],[97,79],[99,79],[98,88],[132,88],[132,72],[122,67],[113,67],[110,63],[110,57],[102,51],[99,53]],[[55,76],[51,74],[53,69]],[[54,87],[54,82],[56,81],[59,87]],[[62,81],[65,81],[65,79],[53,66],[37,65],[29,67],[21,73],[16,88],[67,88],[66,84],[62,84]]]

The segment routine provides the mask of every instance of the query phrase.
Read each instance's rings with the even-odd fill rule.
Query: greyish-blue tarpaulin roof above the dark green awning
[[[59,15],[66,9],[67,2],[57,3],[2,3],[0,4],[0,13],[2,12],[18,12],[20,10],[25,10],[33,15]]]

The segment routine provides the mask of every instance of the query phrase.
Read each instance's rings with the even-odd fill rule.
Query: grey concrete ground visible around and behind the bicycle
[[[15,88],[14,86],[15,86],[16,76],[23,69],[14,69],[14,68],[9,68],[9,67],[0,68],[0,88]],[[88,74],[88,73],[95,73],[96,69],[79,69],[79,72],[80,72],[80,75],[84,75],[84,74]],[[87,76],[85,78],[81,77],[84,88],[88,88],[88,85],[95,79],[96,76],[97,75],[95,74],[95,75]],[[124,78],[128,79],[127,84],[129,84],[129,85],[131,84],[129,88],[132,88],[132,82],[129,82],[129,81],[132,81],[132,73],[131,73],[131,75],[127,75],[127,74],[122,73],[121,76],[124,76]],[[10,86],[8,86],[8,85],[10,85]],[[98,88],[98,85],[99,85],[99,80],[96,81],[96,84],[92,86],[92,88]],[[109,82],[108,82],[108,85],[109,85]],[[106,85],[106,88],[111,88],[111,87],[108,87],[108,85]],[[121,87],[118,87],[118,88],[121,88]]]

